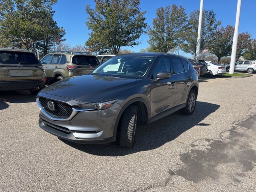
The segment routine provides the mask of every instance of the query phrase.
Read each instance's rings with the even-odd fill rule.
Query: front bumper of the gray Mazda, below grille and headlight
[[[114,127],[120,108],[115,103],[106,110],[80,111],[68,121],[52,120],[40,111],[39,126],[74,143],[106,144],[116,141]]]

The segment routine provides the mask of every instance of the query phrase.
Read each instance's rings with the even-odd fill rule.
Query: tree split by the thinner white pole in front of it
[[[212,34],[221,24],[220,21],[216,20],[215,15],[216,14],[213,12],[213,10],[203,11],[200,52],[205,48],[209,48],[210,44],[212,43]],[[196,56],[198,20],[198,10],[190,13],[190,18],[188,19],[188,26],[184,32],[184,43],[181,45],[181,48],[184,50],[184,52],[191,53],[194,56]]]

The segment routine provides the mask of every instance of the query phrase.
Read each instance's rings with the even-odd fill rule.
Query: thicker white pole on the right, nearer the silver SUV
[[[234,37],[233,37],[229,74],[234,74],[234,71],[235,71],[236,48],[237,48],[237,40],[238,40],[238,28],[239,28],[239,20],[240,20],[241,1],[242,0],[237,1],[236,25],[235,25],[235,31],[234,31]]]

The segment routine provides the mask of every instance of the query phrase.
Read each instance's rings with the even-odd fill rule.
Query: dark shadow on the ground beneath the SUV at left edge
[[[0,91],[0,110],[6,109],[6,103],[31,103],[36,101],[36,96],[31,95],[28,90]]]

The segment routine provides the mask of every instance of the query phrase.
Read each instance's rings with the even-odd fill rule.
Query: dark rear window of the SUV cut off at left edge
[[[35,54],[15,51],[0,51],[0,63],[22,65],[40,64]]]

